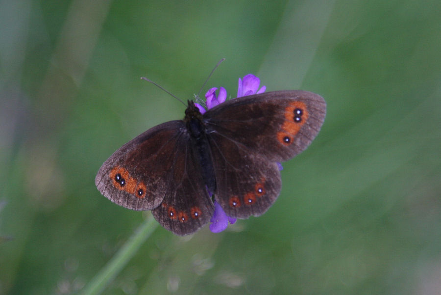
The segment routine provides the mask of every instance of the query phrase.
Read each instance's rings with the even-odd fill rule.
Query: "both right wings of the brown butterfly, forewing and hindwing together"
[[[326,114],[322,97],[276,91],[225,102],[204,114],[216,175],[215,198],[229,216],[261,215],[281,189],[277,162],[302,152]]]

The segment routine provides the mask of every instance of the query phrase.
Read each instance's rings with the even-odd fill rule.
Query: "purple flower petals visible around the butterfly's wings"
[[[252,94],[259,94],[262,92],[265,92],[267,89],[266,86],[262,86],[259,89],[260,85],[260,79],[252,74],[246,75],[243,79],[239,78],[239,86],[237,90],[237,97],[252,95]],[[212,107],[216,107],[217,105],[220,105],[226,100],[227,93],[225,88],[219,87],[219,95],[216,95],[216,90],[218,88],[214,87],[207,91],[205,94],[206,98],[206,104],[207,109],[210,109]],[[195,106],[199,109],[200,113],[205,113],[205,108],[201,105],[195,103]],[[283,167],[280,163],[279,169],[282,170]],[[210,193],[211,195],[211,193]],[[225,230],[228,226],[228,222],[230,224],[234,224],[236,222],[236,218],[227,216],[225,211],[223,211],[221,205],[219,205],[218,202],[214,201],[215,210],[213,213],[213,216],[210,219],[210,230],[213,233],[220,233],[221,231]]]

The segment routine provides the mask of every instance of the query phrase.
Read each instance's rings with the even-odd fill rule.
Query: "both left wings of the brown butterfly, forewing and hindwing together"
[[[183,121],[158,125],[118,149],[95,179],[112,202],[133,210],[152,210],[177,235],[195,232],[213,215]]]

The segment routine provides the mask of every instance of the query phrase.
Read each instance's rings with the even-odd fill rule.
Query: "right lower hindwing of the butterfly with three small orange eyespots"
[[[274,161],[222,134],[209,136],[215,163],[215,199],[228,216],[264,214],[279,196],[280,171]]]

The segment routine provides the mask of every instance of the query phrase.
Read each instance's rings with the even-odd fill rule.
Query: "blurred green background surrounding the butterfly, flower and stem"
[[[263,216],[157,227],[103,294],[440,294],[441,2],[0,1],[0,294],[75,294],[149,215],[94,179],[207,84],[319,93]]]

